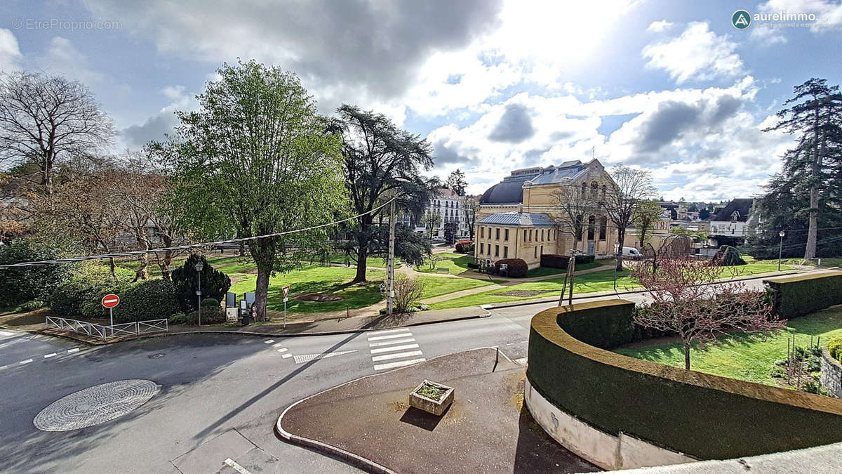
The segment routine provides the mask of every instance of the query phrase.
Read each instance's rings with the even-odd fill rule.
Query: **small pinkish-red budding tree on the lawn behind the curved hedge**
[[[657,270],[638,265],[632,274],[653,299],[636,310],[635,322],[678,335],[687,370],[693,342],[716,342],[717,336],[729,331],[770,331],[784,324],[763,292],[749,291],[738,281],[713,284],[722,276],[717,261],[665,258]]]

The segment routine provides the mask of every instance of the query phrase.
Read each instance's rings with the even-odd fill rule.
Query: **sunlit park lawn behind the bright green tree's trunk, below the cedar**
[[[386,272],[377,268],[370,268],[366,272],[369,279],[366,283],[351,283],[356,274],[356,267],[325,267],[322,265],[305,264],[300,270],[288,273],[276,273],[269,278],[269,296],[267,308],[269,310],[284,309],[283,289],[290,285],[290,301],[286,310],[296,313],[322,313],[342,311],[346,309],[365,308],[383,299],[380,293],[380,283],[386,277]],[[253,292],[257,282],[257,275],[235,273],[237,283],[232,284],[231,290],[237,294]],[[231,275],[231,276],[234,276]],[[299,301],[296,294],[329,293],[338,294],[342,301]]]

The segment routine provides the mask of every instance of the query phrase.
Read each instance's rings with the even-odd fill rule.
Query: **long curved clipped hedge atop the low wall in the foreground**
[[[842,441],[842,401],[628,358],[586,343],[626,341],[632,307],[600,301],[536,315],[526,369],[533,390],[605,433],[622,432],[702,460]]]

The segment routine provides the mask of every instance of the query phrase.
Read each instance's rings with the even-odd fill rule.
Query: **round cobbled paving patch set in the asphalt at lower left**
[[[158,392],[152,380],[117,380],[93,385],[52,402],[35,415],[41,431],[70,431],[105,423],[146,403]]]

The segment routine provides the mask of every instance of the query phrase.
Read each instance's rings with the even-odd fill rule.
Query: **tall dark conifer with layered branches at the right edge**
[[[788,233],[790,239],[805,242],[804,258],[816,256],[820,228],[836,227],[842,221],[842,94],[826,79],[811,78],[797,85],[780,119],[765,131],[783,131],[796,136],[796,145],[783,156],[781,173],[774,175],[760,203],[764,213],[765,241],[774,245],[778,231],[807,226],[803,234]],[[806,221],[806,222],[805,222]],[[794,225],[793,225],[794,224]],[[835,225],[834,225],[835,224]],[[797,225],[798,227],[795,227]],[[823,233],[823,244],[839,249],[833,229]],[[825,246],[825,245],[823,245]],[[789,249],[800,250],[800,245]]]

